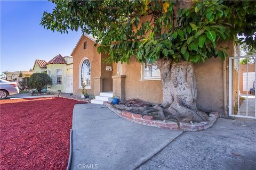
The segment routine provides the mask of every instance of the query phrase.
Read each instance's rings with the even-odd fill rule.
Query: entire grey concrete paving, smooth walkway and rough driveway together
[[[219,118],[199,132],[135,124],[103,105],[73,111],[71,169],[255,169],[256,121]]]

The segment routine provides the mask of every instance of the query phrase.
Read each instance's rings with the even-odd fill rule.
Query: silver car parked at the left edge
[[[0,80],[0,99],[4,99],[7,96],[16,95],[20,92],[17,82],[10,82],[6,80]]]

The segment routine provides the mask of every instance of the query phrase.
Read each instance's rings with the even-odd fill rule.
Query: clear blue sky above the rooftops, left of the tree
[[[1,1],[1,73],[28,71],[36,59],[70,56],[82,32],[61,34],[39,25],[43,12],[54,6],[49,1]]]

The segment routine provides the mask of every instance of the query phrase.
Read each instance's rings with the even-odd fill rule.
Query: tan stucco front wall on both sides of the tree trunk
[[[116,75],[116,63],[113,74]],[[201,64],[194,64],[197,83],[197,106],[204,111],[222,111],[223,78],[222,61],[212,58]],[[153,103],[162,103],[162,81],[140,80],[141,64],[132,60],[123,64],[125,78],[125,99],[140,98]]]

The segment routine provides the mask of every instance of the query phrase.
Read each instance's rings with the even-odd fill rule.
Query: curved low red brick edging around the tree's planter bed
[[[153,116],[148,115],[140,115],[136,113],[131,113],[127,111],[119,111],[115,107],[113,107],[110,103],[105,101],[103,105],[107,106],[110,111],[114,112],[116,115],[129,120],[134,123],[148,125],[148,126],[155,126],[157,128],[162,129],[173,129],[173,130],[183,130],[183,131],[200,131],[210,128],[213,123],[217,120],[219,117],[218,112],[211,112],[209,115],[209,121],[207,122],[194,122],[191,123],[185,123],[185,122],[172,122],[172,121],[157,121],[153,120]]]

